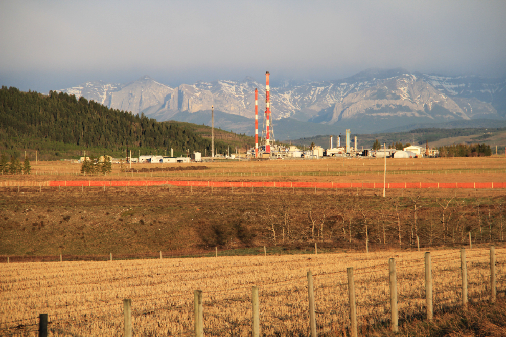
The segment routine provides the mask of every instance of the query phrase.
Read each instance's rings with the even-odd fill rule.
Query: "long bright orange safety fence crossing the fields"
[[[367,182],[298,182],[298,181],[190,181],[190,180],[62,180],[2,181],[0,187],[84,187],[84,186],[194,186],[194,187],[276,187],[276,188],[383,188],[383,183]],[[506,188],[503,182],[424,183],[391,182],[385,188]]]

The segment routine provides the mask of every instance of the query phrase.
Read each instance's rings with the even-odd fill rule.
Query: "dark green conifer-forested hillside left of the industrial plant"
[[[67,93],[0,89],[0,151],[19,156],[22,151],[38,150],[39,159],[56,159],[80,156],[83,151],[121,156],[125,149],[163,154],[171,148],[174,155],[186,150],[209,154],[211,140],[188,125],[157,122]],[[226,142],[215,141],[217,153],[225,153],[226,148]]]

